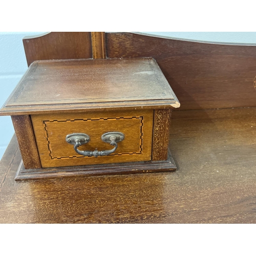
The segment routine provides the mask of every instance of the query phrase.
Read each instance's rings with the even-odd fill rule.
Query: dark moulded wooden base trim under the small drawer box
[[[165,161],[153,162],[131,162],[131,163],[113,163],[113,164],[96,164],[68,167],[53,167],[40,169],[25,169],[23,161],[20,162],[15,180],[39,180],[66,177],[83,177],[83,176],[101,176],[117,174],[137,174],[153,172],[169,172],[176,170],[177,167],[172,155],[168,152],[168,158]]]

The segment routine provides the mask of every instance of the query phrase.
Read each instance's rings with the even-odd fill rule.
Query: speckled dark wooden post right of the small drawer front
[[[152,161],[167,159],[170,129],[170,109],[155,110]]]

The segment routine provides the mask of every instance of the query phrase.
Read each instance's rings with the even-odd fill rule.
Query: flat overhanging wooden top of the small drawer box
[[[179,106],[153,58],[39,60],[0,114]]]

